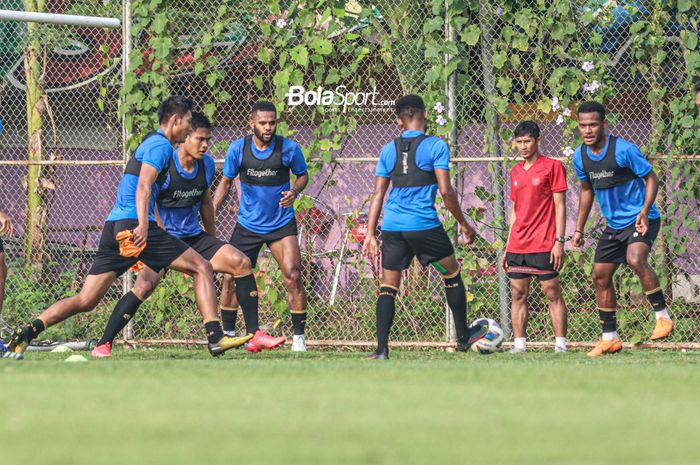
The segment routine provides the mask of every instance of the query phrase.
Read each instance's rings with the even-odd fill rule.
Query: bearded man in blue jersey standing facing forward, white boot
[[[253,134],[233,141],[226,153],[223,178],[214,194],[214,209],[226,200],[234,178],[240,177],[241,193],[238,222],[231,245],[243,252],[255,267],[260,248],[269,247],[284,276],[294,336],[292,350],[306,350],[306,295],[301,283],[301,253],[297,242],[294,200],[309,181],[306,161],[296,142],[277,136],[277,110],[271,102],[253,105],[250,114]],[[296,176],[291,184],[290,172]],[[235,305],[234,305],[235,306]],[[246,330],[253,338],[246,345],[250,352],[278,347],[284,338],[274,338],[260,330],[258,312],[242,308]],[[225,331],[234,328],[235,319],[222,316]]]

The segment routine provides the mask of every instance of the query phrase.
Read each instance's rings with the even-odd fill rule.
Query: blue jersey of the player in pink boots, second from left
[[[216,173],[216,165],[214,159],[208,153],[204,155],[204,176],[207,180],[207,186],[211,187],[214,182],[214,174]],[[194,170],[191,173],[185,171],[180,164],[180,159],[177,157],[177,150],[173,153],[172,163],[175,164],[177,172],[185,179],[195,179],[199,172],[199,162],[195,163]],[[163,183],[162,188],[167,189],[170,185],[170,174]],[[202,202],[197,202],[190,207],[165,207],[158,204],[158,213],[165,229],[176,237],[192,237],[202,232],[202,226],[199,224],[199,208]]]

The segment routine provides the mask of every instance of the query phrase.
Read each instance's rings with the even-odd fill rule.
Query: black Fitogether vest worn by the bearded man
[[[239,174],[241,182],[256,186],[281,186],[289,183],[289,168],[282,165],[282,136],[275,136],[275,148],[265,160],[253,155],[253,136],[243,142],[243,160]]]

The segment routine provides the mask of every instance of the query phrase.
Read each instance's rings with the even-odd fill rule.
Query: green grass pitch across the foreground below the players
[[[60,464],[697,464],[700,353],[116,350],[0,360],[0,457]]]

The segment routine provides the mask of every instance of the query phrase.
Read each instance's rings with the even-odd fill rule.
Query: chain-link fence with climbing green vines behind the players
[[[22,9],[22,3],[16,3],[10,7]],[[89,2],[48,3],[49,10],[63,12],[81,5],[84,8]],[[140,57],[135,60],[132,53],[132,69],[127,73],[138,81],[156,67],[159,47],[167,45],[163,45],[166,39],[170,41],[170,67],[162,71],[169,91],[188,95],[200,109],[207,109],[207,105],[215,102],[217,144],[212,154],[219,160],[219,168],[230,141],[247,132],[247,115],[252,104],[259,98],[279,100],[276,71],[282,65],[279,60],[266,60],[263,52],[268,46],[275,53],[280,50],[269,45],[272,39],[261,33],[265,30],[261,24],[277,31],[276,40],[281,40],[284,30],[292,28],[294,21],[303,21],[291,2],[288,5],[272,2],[279,4],[279,9],[270,11],[255,2],[226,6],[224,10],[214,2],[161,3],[158,14],[170,18],[170,22],[137,31],[140,18],[149,15],[147,5],[125,2],[125,11],[135,12],[131,18],[135,24],[131,34],[133,45],[123,41],[119,31],[43,28],[44,35],[40,36],[43,42],[39,42],[37,55],[42,63],[41,72],[38,84],[30,82],[41,86],[46,95],[30,105],[40,113],[40,126],[36,118],[27,115],[25,51],[33,36],[28,34],[25,24],[0,22],[0,37],[4,38],[0,45],[0,118],[4,127],[0,134],[0,209],[15,223],[15,234],[3,237],[10,271],[2,317],[9,326],[27,321],[56,299],[76,292],[95,253],[123,169],[120,118],[123,115],[116,112],[115,103],[123,87],[119,75],[121,63],[129,55],[123,44],[132,47]],[[552,102],[552,111],[545,112],[539,104],[543,98],[553,96],[551,78],[556,68],[539,69],[533,63],[538,63],[541,54],[550,57],[547,63],[553,67],[578,69],[582,63],[568,56],[568,50],[562,53],[540,41],[521,47],[518,66],[498,67],[502,52],[499,38],[508,26],[504,18],[509,18],[509,14],[515,16],[518,27],[514,34],[527,30],[528,25],[517,19],[521,11],[514,14],[504,12],[496,4],[477,3],[476,8],[472,5],[460,12],[465,19],[460,23],[463,29],[454,31],[445,25],[444,18],[440,23],[441,16],[434,11],[437,3],[404,5],[387,0],[370,6],[359,1],[347,2],[342,21],[338,22],[342,23],[342,29],[335,33],[325,30],[323,37],[330,37],[334,46],[341,47],[342,44],[333,40],[339,40],[336,38],[340,36],[355,40],[348,39],[354,34],[358,37],[357,46],[367,48],[367,58],[361,62],[347,53],[334,57],[328,65],[333,70],[357,65],[352,73],[356,79],[338,82],[325,75],[323,79],[330,84],[316,89],[318,101],[312,101],[315,94],[308,94],[303,104],[291,105],[290,96],[276,102],[284,103],[280,115],[282,129],[308,147],[319,137],[318,128],[323,124],[318,113],[322,91],[337,92],[345,96],[346,103],[348,92],[352,92],[354,99],[347,108],[328,108],[329,118],[340,115],[341,120],[352,123],[348,123],[352,128],[343,132],[342,142],[332,148],[332,159],[321,161],[322,153],[320,156],[316,152],[306,153],[312,166],[312,182],[306,190],[307,196],[297,206],[297,221],[302,277],[309,301],[307,337],[311,340],[351,345],[374,339],[374,303],[380,266],[361,254],[366,226],[363,213],[368,210],[373,191],[377,154],[387,141],[398,135],[391,103],[411,91],[437,92],[435,85],[426,84],[433,80],[430,70],[434,65],[430,59],[434,53],[439,55],[439,60],[446,55],[445,59],[449,60],[450,54],[461,60],[444,79],[438,79],[438,94],[444,100],[438,98],[434,103],[446,109],[437,105],[433,108],[431,101],[429,113],[431,129],[445,129],[447,126],[442,126],[440,120],[443,117],[454,124],[452,132],[443,131],[452,146],[454,183],[463,209],[469,212],[479,231],[475,245],[457,248],[468,281],[470,318],[488,316],[508,327],[510,291],[497,266],[507,232],[504,215],[510,209],[507,175],[514,163],[507,130],[519,120],[538,120],[543,130],[542,153],[561,157],[564,147],[574,140],[567,123],[558,120],[564,114],[563,109],[554,111],[556,105]],[[612,19],[601,29],[602,39],[594,41],[597,45],[593,55],[598,57],[596,76],[605,80],[608,90],[614,90],[606,95],[614,118],[610,128],[615,134],[647,147],[658,137],[656,104],[649,97],[649,82],[640,71],[639,48],[643,44],[632,31],[637,30],[636,21],[651,21],[654,12],[644,10],[637,16],[624,16],[627,10],[608,9]],[[334,24],[333,16],[329,17],[323,9],[315,16],[312,26],[319,31],[321,26],[333,27],[328,25]],[[465,34],[473,30],[472,25],[479,26],[479,34],[475,40],[465,39]],[[667,29],[666,45],[661,48],[669,58],[655,75],[654,84],[668,95],[678,97],[687,90],[683,87],[686,71],[679,37],[681,30],[697,34],[697,24],[674,23]],[[54,34],[50,34],[52,31]],[[428,33],[442,38],[438,52],[431,49]],[[456,37],[461,40],[453,41]],[[453,42],[454,47],[450,46]],[[310,58],[307,57],[310,62],[313,62],[313,50],[325,53],[322,48],[311,50]],[[508,59],[515,61],[513,56],[516,55]],[[303,60],[299,54],[294,57]],[[316,68],[314,72],[322,71]],[[211,78],[214,74],[217,77]],[[317,82],[314,79],[303,76],[302,83]],[[592,85],[591,82],[597,81],[585,84]],[[290,94],[291,85],[290,81]],[[153,81],[148,81],[142,87],[153,86]],[[314,89],[304,88],[304,92],[309,90]],[[508,103],[506,108],[498,107],[494,96],[499,95]],[[570,107],[590,95],[583,91],[574,93]],[[688,99],[692,100],[692,96]],[[35,161],[27,161],[32,158]],[[692,174],[697,171],[699,160],[692,156],[656,158],[654,164],[662,182],[657,203],[664,215],[664,228],[653,250],[652,263],[662,278],[677,324],[671,341],[690,343],[700,337],[697,315],[700,239],[694,213],[698,187]],[[578,208],[578,188],[570,163],[566,157],[564,160],[570,186],[567,231],[571,233]],[[442,212],[444,209],[440,207]],[[230,236],[236,208],[237,199],[230,196],[218,212],[217,232],[221,238]],[[598,337],[599,322],[589,276],[596,232],[601,230],[600,216],[594,213],[586,247],[574,251],[567,246],[562,283],[572,341],[590,342]],[[256,276],[261,321],[272,323],[281,318],[283,325],[277,331],[290,334],[286,291],[279,268],[267,251],[261,255]],[[133,276],[126,275],[97,310],[52,329],[48,337],[99,337],[111,308],[124,289],[128,290],[132,279]],[[622,308],[618,317],[621,334],[626,340],[644,340],[653,317],[638,280],[624,268],[616,276],[616,284]],[[533,341],[551,340],[546,300],[537,285],[532,289],[528,336]],[[392,339],[433,345],[446,341],[448,313],[437,272],[414,263],[404,273]],[[169,273],[143,305],[128,336],[159,341],[200,339],[200,326],[190,279]]]

